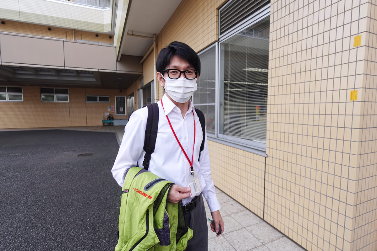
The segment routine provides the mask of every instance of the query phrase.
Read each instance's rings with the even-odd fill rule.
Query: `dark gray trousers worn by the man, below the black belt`
[[[187,242],[186,251],[208,250],[208,227],[205,215],[203,195],[200,194],[196,207],[185,214],[186,225],[193,230],[194,236]]]

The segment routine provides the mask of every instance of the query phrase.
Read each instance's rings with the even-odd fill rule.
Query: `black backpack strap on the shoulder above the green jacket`
[[[147,126],[145,128],[144,138],[144,161],[143,167],[148,170],[150,155],[155,151],[157,128],[158,128],[158,104],[152,103],[146,105],[148,108]]]

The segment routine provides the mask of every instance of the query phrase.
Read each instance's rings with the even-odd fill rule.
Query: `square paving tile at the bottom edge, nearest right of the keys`
[[[237,251],[247,251],[262,243],[245,229],[240,229],[223,235]]]

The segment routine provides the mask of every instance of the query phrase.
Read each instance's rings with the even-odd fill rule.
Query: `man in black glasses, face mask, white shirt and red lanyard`
[[[215,223],[211,223],[211,230],[219,233],[220,225],[223,232],[224,222],[211,178],[207,134],[198,161],[203,134],[190,97],[198,88],[196,82],[200,74],[200,59],[187,44],[172,42],[159,53],[156,70],[158,82],[166,93],[158,102],[156,147],[148,170],[175,183],[169,193],[169,202],[182,200],[184,207],[187,205],[184,211],[189,212],[185,213],[185,220],[194,236],[186,250],[207,250],[208,231],[203,196]],[[147,107],[135,111],[124,129],[123,141],[112,168],[113,177],[120,186],[123,185],[126,170],[143,163],[147,117]],[[189,208],[188,205],[196,206]]]

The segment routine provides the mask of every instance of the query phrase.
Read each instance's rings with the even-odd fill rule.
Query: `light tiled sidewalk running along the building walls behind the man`
[[[59,128],[28,128],[28,129],[1,129],[0,131],[26,130],[78,130],[114,132],[120,144],[124,134],[124,126],[80,126]],[[224,234],[220,237],[210,230],[208,224],[208,251],[303,251],[300,246],[271,227],[264,220],[256,216],[247,208],[236,202],[227,194],[216,188],[221,205],[221,216],[224,220]],[[207,218],[211,218],[207,202],[205,202]]]

